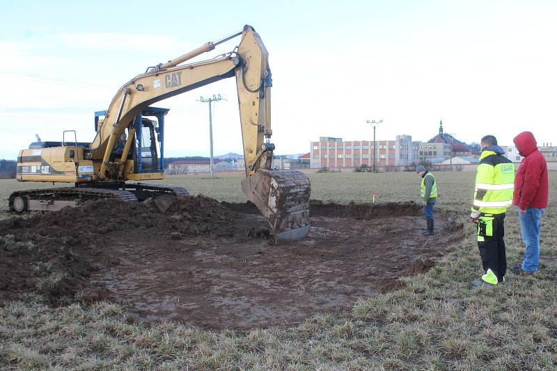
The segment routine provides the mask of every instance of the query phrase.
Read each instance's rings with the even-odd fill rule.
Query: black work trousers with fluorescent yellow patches
[[[491,223],[491,226],[489,226],[489,223]],[[483,270],[484,272],[487,272],[488,269],[492,270],[499,282],[503,281],[507,272],[504,237],[505,213],[482,214],[478,225],[478,249],[480,249],[480,256],[482,257]]]

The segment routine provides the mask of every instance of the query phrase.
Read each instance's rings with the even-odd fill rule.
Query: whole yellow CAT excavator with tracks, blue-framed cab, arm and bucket
[[[182,64],[240,35],[242,40],[233,51]],[[269,221],[276,242],[303,238],[309,230],[311,186],[301,172],[272,169],[271,70],[267,49],[248,25],[217,42],[148,67],[125,83],[108,110],[95,113],[93,142],[77,142],[75,131],[64,131],[62,142],[42,142],[37,137],[29,149],[19,151],[18,181],[74,186],[13,192],[10,211],[56,211],[91,199],[141,201],[157,194],[188,195],[185,188],[141,183],[164,179],[164,117],[168,109],[150,105],[233,76],[246,169],[242,190]]]

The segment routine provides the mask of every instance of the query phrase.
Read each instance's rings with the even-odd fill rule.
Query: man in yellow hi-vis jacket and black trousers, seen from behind
[[[512,205],[515,189],[515,165],[503,156],[493,135],[480,142],[482,154],[476,174],[476,190],[471,220],[478,224],[478,248],[484,274],[472,282],[473,286],[491,286],[504,281],[507,271],[505,253],[505,212]]]

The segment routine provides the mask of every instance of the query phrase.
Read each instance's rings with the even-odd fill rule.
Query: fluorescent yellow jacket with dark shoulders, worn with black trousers
[[[485,214],[505,213],[512,205],[514,190],[515,165],[501,153],[484,149],[476,174],[472,210]]]

